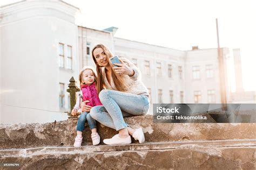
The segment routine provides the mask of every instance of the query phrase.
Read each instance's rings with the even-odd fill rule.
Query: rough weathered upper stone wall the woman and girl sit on
[[[142,127],[146,142],[256,139],[256,123],[153,123],[150,115],[127,117],[125,121],[131,128]],[[1,148],[72,146],[76,136],[76,125],[77,118],[46,124],[1,124],[0,146]],[[117,133],[116,130],[102,128],[99,124],[98,132],[101,144],[103,139],[111,138]],[[86,125],[82,146],[91,145],[90,134]]]

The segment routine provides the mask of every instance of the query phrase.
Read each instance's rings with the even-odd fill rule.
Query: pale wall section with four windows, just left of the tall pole
[[[210,79],[206,78],[206,65],[213,65],[213,77]],[[193,79],[193,66],[199,66],[200,79]],[[208,103],[207,90],[215,90],[215,101],[220,103],[217,49],[187,51],[185,72],[187,103],[194,103],[194,91],[201,91],[201,103]]]

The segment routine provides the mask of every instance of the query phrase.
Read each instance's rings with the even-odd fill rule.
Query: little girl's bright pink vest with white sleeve
[[[83,101],[90,101],[86,104],[90,105],[91,107],[94,107],[96,105],[103,105],[99,100],[99,96],[95,87],[95,82],[93,82],[90,85],[81,84],[80,92],[79,92],[79,95],[77,96],[76,105],[74,107],[74,109],[77,109],[78,112],[82,112],[82,109],[80,106]]]

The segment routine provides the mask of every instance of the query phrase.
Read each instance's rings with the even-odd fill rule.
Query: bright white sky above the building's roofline
[[[1,0],[0,5],[17,2]],[[103,30],[118,27],[116,37],[188,50],[240,48],[245,90],[256,90],[256,1],[254,0],[65,0],[82,12],[79,25]]]

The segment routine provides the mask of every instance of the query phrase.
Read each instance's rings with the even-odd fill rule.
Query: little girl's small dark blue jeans
[[[90,129],[97,127],[95,119],[93,119],[89,113],[82,112],[82,114],[78,118],[77,131],[84,131],[84,125],[86,121],[88,122]]]

